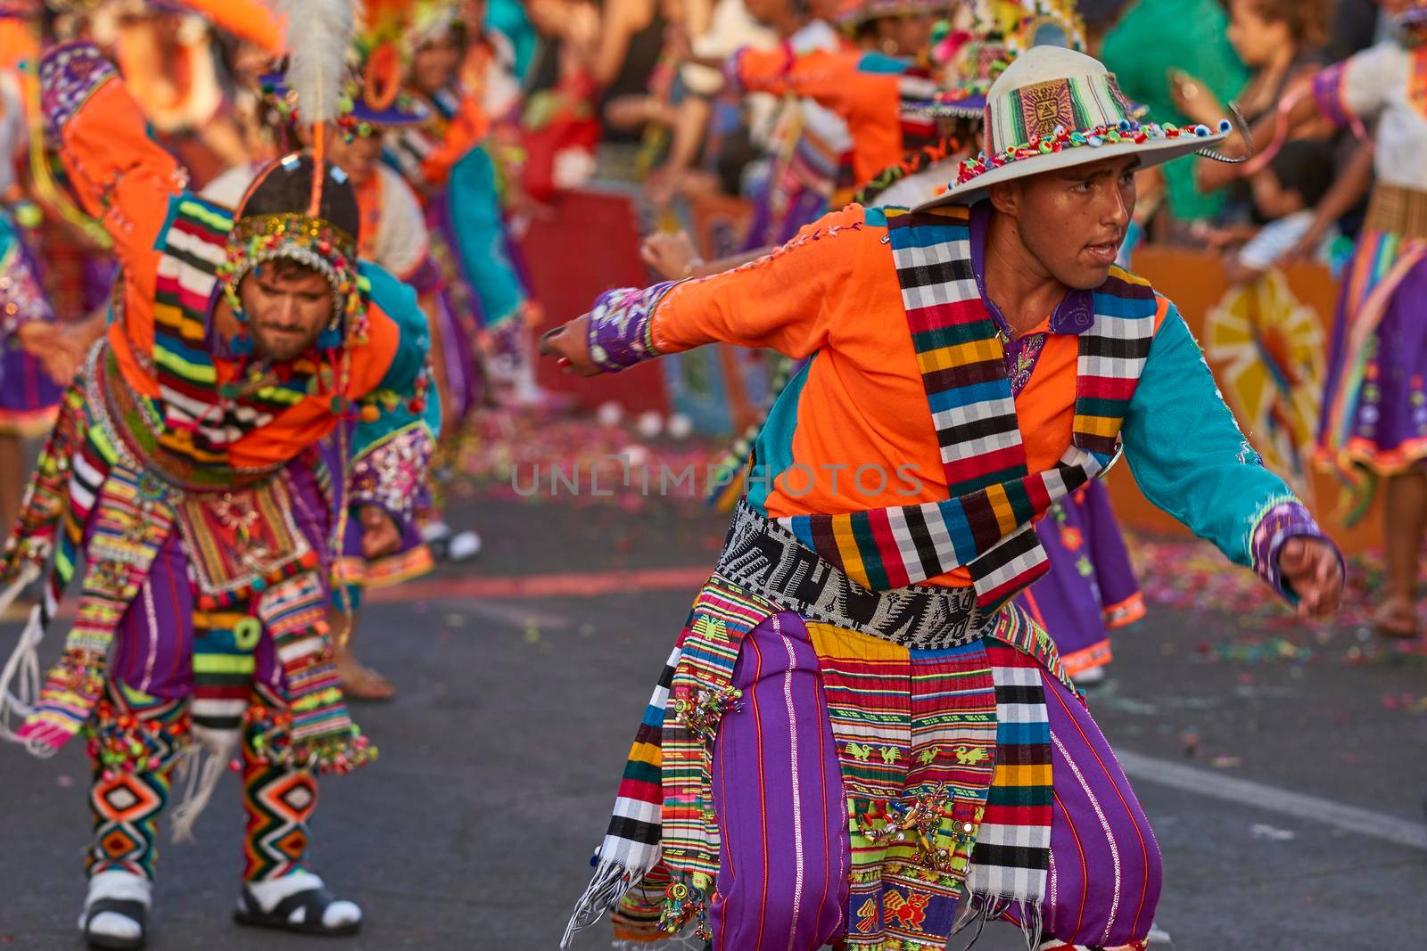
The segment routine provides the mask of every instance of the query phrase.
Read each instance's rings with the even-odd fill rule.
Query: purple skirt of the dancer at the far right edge
[[[1381,232],[1364,231],[1357,254],[1381,254],[1380,242],[1373,240],[1377,235]],[[1353,305],[1361,307],[1361,301],[1350,299],[1353,284],[1344,279],[1339,298],[1319,418],[1320,442],[1343,375],[1359,356],[1347,352],[1346,314]],[[1427,309],[1423,301],[1427,301],[1427,261],[1420,261],[1403,277],[1367,344],[1377,375],[1356,394],[1356,405],[1349,405],[1350,428],[1344,435],[1364,441],[1374,455],[1407,459],[1427,455]]]

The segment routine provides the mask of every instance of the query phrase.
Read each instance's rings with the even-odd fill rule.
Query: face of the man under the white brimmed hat
[[[1104,284],[1134,215],[1137,155],[1104,158],[992,187],[1025,248],[1070,288]]]

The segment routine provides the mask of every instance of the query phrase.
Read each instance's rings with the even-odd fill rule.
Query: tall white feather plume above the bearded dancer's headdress
[[[337,118],[352,37],[352,0],[277,0],[287,17],[287,88],[307,125]]]

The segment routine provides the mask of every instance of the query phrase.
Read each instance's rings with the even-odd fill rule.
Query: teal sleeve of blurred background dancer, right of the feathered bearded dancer
[[[525,289],[505,250],[495,163],[485,145],[472,148],[451,170],[447,202],[461,268],[481,299],[481,327],[499,327],[519,311]]]

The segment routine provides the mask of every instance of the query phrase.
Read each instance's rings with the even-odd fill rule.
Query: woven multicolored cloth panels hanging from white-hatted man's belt
[[[695,602],[631,750],[598,857],[601,888],[586,895],[585,911],[602,911],[601,898],[608,907],[625,887],[616,883],[615,867],[648,873],[615,915],[616,935],[625,940],[702,928],[721,851],[709,756],[722,713],[738,703],[731,682],[741,643],[778,610],[719,576]],[[1035,796],[1043,807],[1005,817],[1026,827],[1015,833],[1019,841],[1036,847],[999,858],[1009,868],[1000,881],[1043,883],[1050,834],[1049,766],[1035,774],[1019,766],[997,770],[1002,690],[986,643],[912,650],[825,623],[809,623],[808,629],[822,666],[848,797],[855,881],[849,947],[880,948],[892,938],[922,941],[910,927],[918,918],[888,914],[883,895],[895,894],[895,904],[913,907],[958,900],[997,780],[1045,786],[1043,794]],[[987,636],[1009,644],[1005,656],[1023,659],[1009,666],[1030,672],[1045,667],[1065,679],[1052,642],[1019,609],[1005,609]],[[997,663],[1007,664],[1005,659]],[[1042,730],[1049,729],[1045,699],[1022,686],[1015,684],[1022,726],[1013,739],[1025,734],[1027,717],[1039,717]],[[1013,756],[1026,759],[1019,744]],[[662,895],[652,894],[659,881],[668,883]],[[1005,897],[1035,903],[1040,895],[1020,888]],[[860,918],[859,910],[865,910]],[[588,915],[582,920],[591,921]]]

